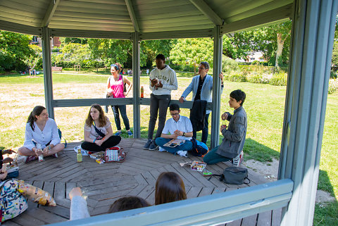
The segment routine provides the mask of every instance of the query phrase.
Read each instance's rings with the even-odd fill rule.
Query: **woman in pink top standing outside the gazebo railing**
[[[127,77],[123,75],[119,75],[121,68],[120,64],[112,64],[111,65],[111,77],[108,78],[107,81],[107,94],[109,98],[125,98],[127,94],[130,92],[132,88],[132,82],[127,79]],[[128,85],[127,90],[125,90],[125,84]],[[132,132],[130,131],[129,119],[127,117],[127,109],[125,105],[119,106],[111,106],[111,109],[114,113],[115,124],[118,128],[118,131],[115,133],[115,136],[120,136],[121,134],[121,121],[120,114],[118,110],[120,109],[121,116],[123,118],[123,123],[125,124],[125,130],[127,130],[127,134],[132,136]]]

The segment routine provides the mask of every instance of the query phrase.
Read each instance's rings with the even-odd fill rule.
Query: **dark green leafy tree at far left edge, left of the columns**
[[[0,70],[25,70],[25,59],[34,54],[30,40],[32,35],[0,31]]]

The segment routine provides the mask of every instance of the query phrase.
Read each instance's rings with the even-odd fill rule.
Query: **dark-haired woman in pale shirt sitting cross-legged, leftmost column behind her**
[[[42,145],[42,151],[37,149],[36,144]],[[25,143],[18,149],[18,153],[26,156],[25,163],[28,163],[36,160],[41,154],[58,158],[58,152],[64,148],[55,121],[48,117],[44,106],[35,106],[28,116]]]

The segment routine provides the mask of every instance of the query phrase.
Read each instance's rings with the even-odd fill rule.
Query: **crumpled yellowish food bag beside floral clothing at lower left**
[[[56,206],[56,203],[48,192],[45,192],[38,187],[25,183],[23,180],[19,180],[18,191],[23,194],[27,199],[35,203],[39,203],[44,206]]]

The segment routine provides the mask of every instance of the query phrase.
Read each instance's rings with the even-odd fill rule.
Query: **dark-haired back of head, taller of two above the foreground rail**
[[[155,205],[187,199],[182,178],[175,172],[162,172],[156,180]]]

